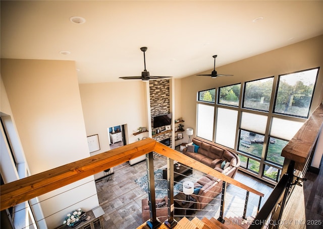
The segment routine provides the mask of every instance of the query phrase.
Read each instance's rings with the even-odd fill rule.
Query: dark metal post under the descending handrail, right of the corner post
[[[176,226],[174,219],[174,160],[167,158],[167,187],[168,187],[168,219],[165,225],[168,228]]]

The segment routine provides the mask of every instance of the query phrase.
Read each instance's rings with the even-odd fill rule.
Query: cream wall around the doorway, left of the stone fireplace
[[[100,150],[91,155],[110,150],[109,127],[126,124],[127,144],[137,141],[138,137],[148,137],[148,132],[133,135],[138,127],[148,127],[145,84],[122,80],[120,83],[79,85],[86,134],[98,134],[99,137]],[[102,176],[101,172],[95,178]]]

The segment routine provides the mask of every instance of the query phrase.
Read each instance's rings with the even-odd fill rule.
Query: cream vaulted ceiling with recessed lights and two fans
[[[141,75],[142,46],[183,78],[321,34],[323,1],[1,1],[1,57],[75,60],[79,83]]]

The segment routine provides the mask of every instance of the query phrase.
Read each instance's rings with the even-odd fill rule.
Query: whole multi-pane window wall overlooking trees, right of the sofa
[[[233,148],[240,167],[257,178],[278,181],[282,150],[308,117],[318,70],[199,92],[197,136]]]

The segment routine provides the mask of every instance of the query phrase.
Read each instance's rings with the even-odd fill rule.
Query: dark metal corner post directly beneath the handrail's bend
[[[149,211],[150,211],[150,220],[147,221],[147,225],[151,229],[153,229],[153,228],[157,228],[161,224],[156,216],[153,152],[149,152],[148,154],[146,154],[146,164],[147,164],[148,198],[149,198]]]

